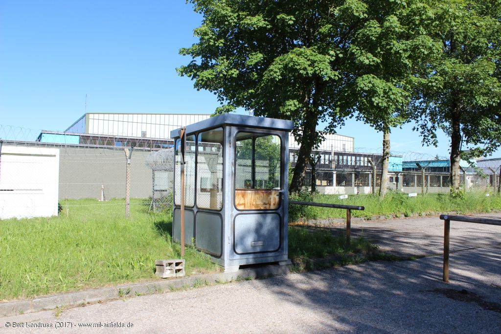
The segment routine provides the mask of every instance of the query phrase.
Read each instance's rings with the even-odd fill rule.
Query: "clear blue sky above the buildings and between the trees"
[[[0,124],[65,130],[85,111],[212,113],[215,96],[175,68],[201,17],[182,0],[0,2]],[[395,129],[392,151],[447,156],[448,140],[421,147],[412,126]],[[357,148],[382,135],[350,120],[339,133]]]

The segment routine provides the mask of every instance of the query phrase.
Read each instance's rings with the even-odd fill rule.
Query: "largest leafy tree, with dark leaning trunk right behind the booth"
[[[399,124],[410,60],[424,48],[409,50],[428,43],[419,38],[427,15],[421,1],[189,2],[203,21],[194,30],[198,43],[180,50],[193,60],[178,73],[213,92],[219,111],[243,107],[294,121],[300,149],[291,192],[303,186],[311,151],[323,139],[319,122],[334,133],[357,114],[386,138]]]

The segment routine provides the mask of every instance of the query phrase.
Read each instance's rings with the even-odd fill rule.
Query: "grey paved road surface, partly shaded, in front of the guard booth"
[[[396,254],[441,251],[437,218],[358,223]],[[364,224],[370,226],[365,227]],[[102,304],[0,318],[0,332],[500,333],[501,227],[451,223],[450,283],[442,257],[369,262]],[[437,232],[435,230],[438,229]],[[387,235],[388,233],[393,233]],[[481,238],[480,238],[481,237]],[[393,246],[392,246],[393,245]],[[397,249],[406,247],[404,252]],[[475,247],[475,248],[472,248]],[[412,251],[414,250],[414,251]],[[461,290],[463,290],[461,292]],[[13,322],[24,328],[6,328]],[[52,328],[28,328],[52,325]],[[110,322],[133,327],[107,328]],[[79,329],[94,323],[100,328]],[[73,328],[70,328],[73,326]]]

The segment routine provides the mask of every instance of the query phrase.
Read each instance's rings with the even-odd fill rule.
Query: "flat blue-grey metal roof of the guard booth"
[[[293,121],[279,120],[276,118],[256,117],[237,114],[222,114],[186,126],[186,134],[213,129],[223,125],[234,125],[260,129],[275,129],[291,131],[294,129]],[[170,138],[179,138],[179,129],[170,132]]]

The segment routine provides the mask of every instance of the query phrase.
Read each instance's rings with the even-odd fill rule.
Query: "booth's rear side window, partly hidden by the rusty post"
[[[176,166],[174,168],[174,203],[181,205],[181,141],[176,139]],[[184,151],[184,205],[195,204],[195,135],[186,136]]]

